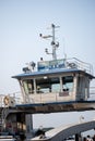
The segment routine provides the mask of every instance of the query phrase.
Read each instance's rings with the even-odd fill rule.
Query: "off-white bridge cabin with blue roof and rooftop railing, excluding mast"
[[[92,65],[78,59],[40,61],[37,70],[23,68],[13,76],[20,82],[24,103],[86,101],[94,78]]]

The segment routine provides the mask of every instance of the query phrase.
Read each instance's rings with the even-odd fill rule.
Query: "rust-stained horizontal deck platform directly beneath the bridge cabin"
[[[70,102],[50,102],[50,103],[31,103],[19,104],[13,107],[16,112],[24,113],[57,113],[74,111],[93,111],[95,110],[95,100],[93,101],[70,101]]]

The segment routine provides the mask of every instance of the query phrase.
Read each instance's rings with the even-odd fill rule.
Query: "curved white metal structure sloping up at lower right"
[[[94,128],[95,128],[95,120],[61,126],[47,131],[43,138],[38,136],[28,141],[63,141],[70,136],[81,133],[83,131],[91,130]]]

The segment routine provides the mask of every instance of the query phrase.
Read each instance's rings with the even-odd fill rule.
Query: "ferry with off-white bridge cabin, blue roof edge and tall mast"
[[[12,133],[31,132],[32,115],[36,113],[71,112],[95,110],[95,100],[90,100],[90,82],[94,79],[93,66],[79,59],[57,59],[59,42],[55,38],[55,29],[59,26],[51,24],[52,35],[40,37],[51,38],[52,60],[31,62],[23,68],[23,74],[12,76],[21,87],[21,102],[16,95],[5,95],[0,107],[1,130],[3,127]],[[95,94],[95,91],[93,92]],[[1,100],[1,99],[0,99]],[[1,102],[2,103],[2,102]]]

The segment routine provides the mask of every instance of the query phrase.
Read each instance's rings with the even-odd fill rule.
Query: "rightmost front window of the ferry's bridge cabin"
[[[62,77],[62,88],[63,91],[72,91],[73,90],[73,77],[72,76],[66,76]]]

